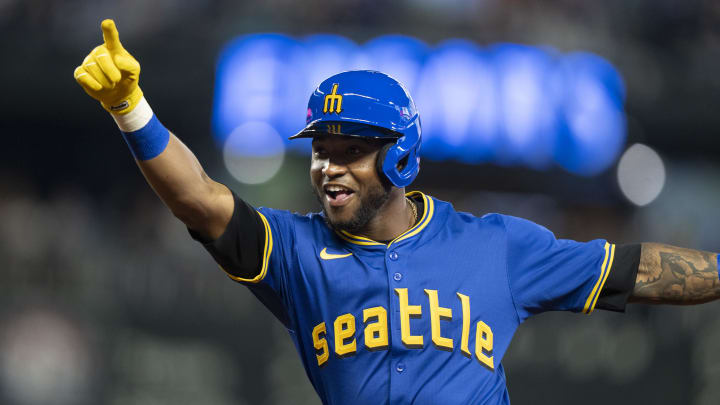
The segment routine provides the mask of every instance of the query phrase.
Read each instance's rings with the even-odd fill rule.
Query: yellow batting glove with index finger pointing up
[[[127,114],[143,98],[140,63],[123,48],[113,20],[104,20],[101,27],[104,43],[75,68],[75,80],[109,112]]]

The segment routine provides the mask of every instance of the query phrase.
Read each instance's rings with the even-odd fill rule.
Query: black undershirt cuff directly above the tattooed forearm
[[[625,312],[625,305],[635,288],[640,265],[640,248],[639,243],[615,247],[615,259],[605,286],[600,291],[596,308]]]

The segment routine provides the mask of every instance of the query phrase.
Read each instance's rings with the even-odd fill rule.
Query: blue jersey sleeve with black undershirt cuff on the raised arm
[[[270,208],[255,209],[233,192],[235,207],[219,238],[202,243],[228,277],[250,289],[288,329],[291,307],[286,272],[295,237],[293,214]]]

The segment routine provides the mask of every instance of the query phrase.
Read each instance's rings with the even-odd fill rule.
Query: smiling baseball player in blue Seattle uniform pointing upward
[[[508,404],[501,362],[528,317],[720,296],[714,253],[561,240],[530,221],[406,193],[420,118],[379,72],[320,83],[291,137],[312,138],[322,212],[251,207],[158,121],[113,21],[102,31],[75,79],[192,237],[285,325],[325,404]]]

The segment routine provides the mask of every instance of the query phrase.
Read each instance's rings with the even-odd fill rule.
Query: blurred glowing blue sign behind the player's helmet
[[[615,161],[625,142],[622,79],[597,55],[517,44],[481,48],[462,39],[431,48],[400,35],[361,46],[327,34],[300,40],[254,34],[229,43],[217,66],[216,140],[223,145],[236,128],[254,122],[292,135],[305,125],[315,87],[350,69],[379,70],[405,84],[420,110],[428,159],[535,169],[557,164],[593,175]],[[267,144],[254,140],[252,154],[277,153],[274,138]],[[286,146],[308,151],[307,142]]]

